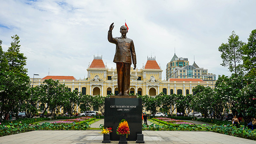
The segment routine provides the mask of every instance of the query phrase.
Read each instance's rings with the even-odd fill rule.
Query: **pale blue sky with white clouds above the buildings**
[[[137,67],[147,56],[156,56],[166,75],[174,52],[189,58],[216,75],[230,75],[221,66],[218,47],[235,31],[247,42],[256,29],[255,0],[2,0],[0,40],[6,51],[11,36],[20,37],[20,52],[28,58],[28,75],[73,75],[87,78],[93,55],[102,55],[108,68],[115,68],[113,36],[120,26],[129,27],[134,40]]]

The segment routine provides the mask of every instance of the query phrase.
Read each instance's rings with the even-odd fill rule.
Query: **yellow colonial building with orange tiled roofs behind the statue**
[[[118,94],[116,69],[108,69],[102,60],[102,56],[94,56],[87,68],[87,78],[77,80],[73,76],[52,76],[34,78],[33,86],[38,86],[45,79],[58,80],[69,87],[70,91],[78,90],[84,95],[110,95]],[[131,67],[130,93],[155,96],[163,92],[170,94],[192,94],[193,87],[197,85],[213,88],[215,81],[202,80],[200,78],[169,78],[162,80],[163,70],[158,65],[156,58],[148,58],[141,69]],[[33,81],[33,78],[30,78]],[[31,83],[32,84],[32,83]]]

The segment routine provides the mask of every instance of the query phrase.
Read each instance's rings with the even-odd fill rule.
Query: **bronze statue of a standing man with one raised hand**
[[[131,59],[134,64],[134,69],[136,68],[134,42],[126,37],[126,26],[120,27],[121,37],[112,37],[113,24],[114,23],[110,25],[108,30],[108,41],[116,44],[116,54],[113,62],[116,63],[117,69],[118,95],[129,95]]]

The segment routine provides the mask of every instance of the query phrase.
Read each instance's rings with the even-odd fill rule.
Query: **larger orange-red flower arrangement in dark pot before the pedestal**
[[[130,129],[128,122],[125,119],[120,121],[119,126],[117,127],[116,134],[120,135],[119,144],[127,144],[126,138],[130,135]]]

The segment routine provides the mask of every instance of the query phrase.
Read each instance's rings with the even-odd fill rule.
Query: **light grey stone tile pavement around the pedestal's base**
[[[253,140],[215,132],[143,131],[143,134],[145,144],[256,144]],[[0,137],[0,144],[100,144],[102,140],[100,130],[38,130]]]

